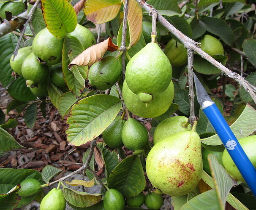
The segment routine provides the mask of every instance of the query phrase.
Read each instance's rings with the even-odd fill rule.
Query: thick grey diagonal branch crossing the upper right
[[[149,14],[154,8],[150,6],[148,3],[146,3],[144,0],[136,0],[142,8],[144,8]],[[198,47],[198,43],[196,43],[191,38],[187,37],[186,35],[182,34],[178,29],[176,29],[172,24],[170,24],[163,16],[161,16],[158,13],[158,21],[166,27],[175,37],[177,37],[185,46],[187,49],[191,49],[198,53],[202,58],[209,61],[212,65],[216,66],[218,69],[220,69],[224,74],[226,74],[228,77],[234,79],[237,81],[240,85],[242,85],[246,91],[250,94],[250,96],[253,98],[254,103],[256,104],[256,91],[255,88],[251,87],[251,84],[246,81],[243,77],[241,77],[239,74],[232,72],[230,69],[228,69],[226,66],[223,66],[220,62],[216,61],[214,58],[209,56],[207,53],[202,51],[201,48]]]

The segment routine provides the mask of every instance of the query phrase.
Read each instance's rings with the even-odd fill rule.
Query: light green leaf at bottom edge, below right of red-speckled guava
[[[184,206],[180,208],[180,210],[221,210],[221,207],[218,204],[218,197],[215,189],[208,190],[198,196],[192,198],[189,202],[187,202]]]

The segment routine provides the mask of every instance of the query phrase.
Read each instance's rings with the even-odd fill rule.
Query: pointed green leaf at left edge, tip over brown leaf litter
[[[10,133],[0,127],[0,152],[7,152],[22,147]]]

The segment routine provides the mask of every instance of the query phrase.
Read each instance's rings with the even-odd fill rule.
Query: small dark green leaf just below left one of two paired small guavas
[[[106,144],[103,142],[99,142],[97,147],[101,150],[101,155],[106,167],[105,176],[108,178],[110,173],[119,164],[117,153],[114,150],[111,152],[109,149],[106,149]]]

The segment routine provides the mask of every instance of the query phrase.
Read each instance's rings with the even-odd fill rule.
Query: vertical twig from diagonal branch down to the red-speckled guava
[[[195,93],[193,88],[193,61],[194,61],[194,52],[188,49],[188,98],[189,98],[189,110],[190,110],[188,121],[191,124],[196,120]]]

